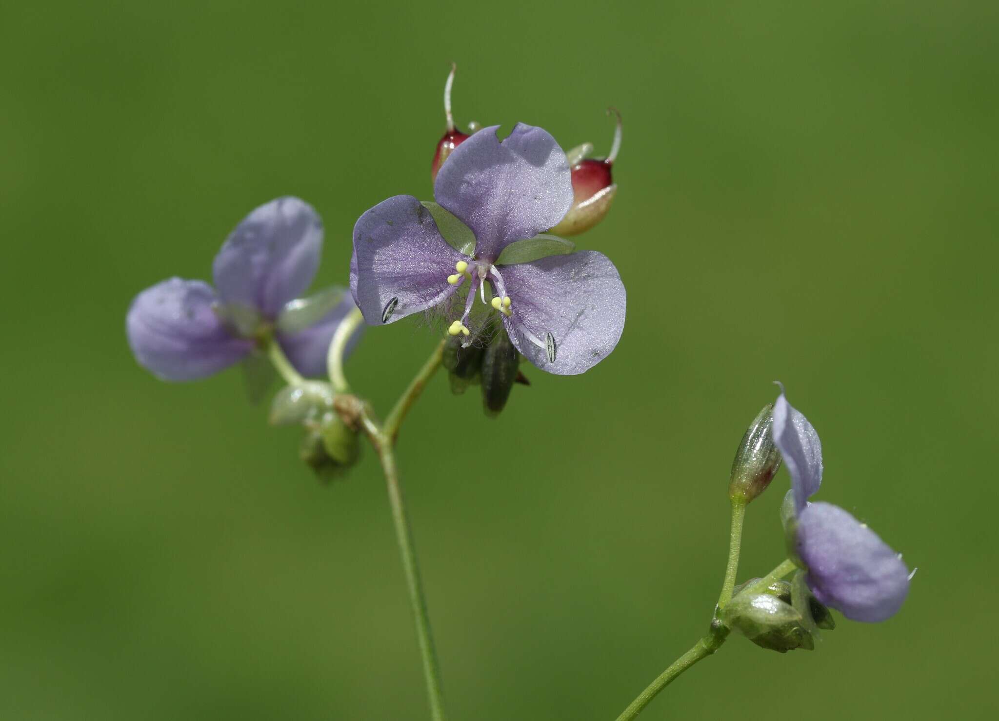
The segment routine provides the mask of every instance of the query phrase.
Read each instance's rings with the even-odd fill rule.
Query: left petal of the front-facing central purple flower
[[[441,237],[420,201],[396,196],[354,226],[351,291],[370,325],[399,321],[450,298],[459,286],[448,277],[465,258]]]

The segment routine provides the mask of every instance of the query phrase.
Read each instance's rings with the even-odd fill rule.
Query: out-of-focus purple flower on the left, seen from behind
[[[136,360],[164,380],[195,380],[273,338],[301,373],[324,374],[330,340],[354,304],[337,289],[296,300],[316,275],[322,247],[323,223],[307,203],[261,206],[215,257],[215,289],[171,278],[136,296],[125,322]]]

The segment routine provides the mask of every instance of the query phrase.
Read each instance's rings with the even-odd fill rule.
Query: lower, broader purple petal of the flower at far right
[[[798,514],[797,548],[819,601],[855,621],[883,621],[909,592],[901,556],[839,506],[809,503]]]

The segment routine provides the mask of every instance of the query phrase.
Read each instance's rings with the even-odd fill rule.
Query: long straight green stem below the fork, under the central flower
[[[396,539],[399,541],[399,552],[403,557],[403,568],[406,571],[406,583],[410,589],[410,603],[413,606],[413,615],[417,621],[417,638],[424,660],[424,677],[427,681],[431,718],[434,721],[444,721],[441,667],[438,664],[437,652],[434,648],[430,613],[427,610],[427,599],[424,597],[420,567],[417,565],[417,553],[413,545],[413,531],[410,528],[410,519],[403,499],[403,488],[399,483],[396,456],[392,449],[392,443],[384,431],[381,433],[378,446],[379,459],[382,461],[382,469],[385,471],[385,479],[389,487],[389,503],[392,506],[392,518],[396,525]]]

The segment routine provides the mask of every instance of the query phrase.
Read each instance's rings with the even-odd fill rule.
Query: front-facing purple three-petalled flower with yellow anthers
[[[580,373],[613,350],[625,306],[613,264],[593,251],[551,255],[572,246],[536,238],[572,206],[568,162],[554,138],[519,124],[500,143],[496,127],[481,130],[441,167],[434,195],[474,244],[453,248],[413,196],[366,212],[354,227],[351,290],[369,324],[443,308],[454,314],[449,333],[468,338],[485,325],[470,321],[478,296],[492,306],[487,318],[500,318],[516,350],[543,370]]]

